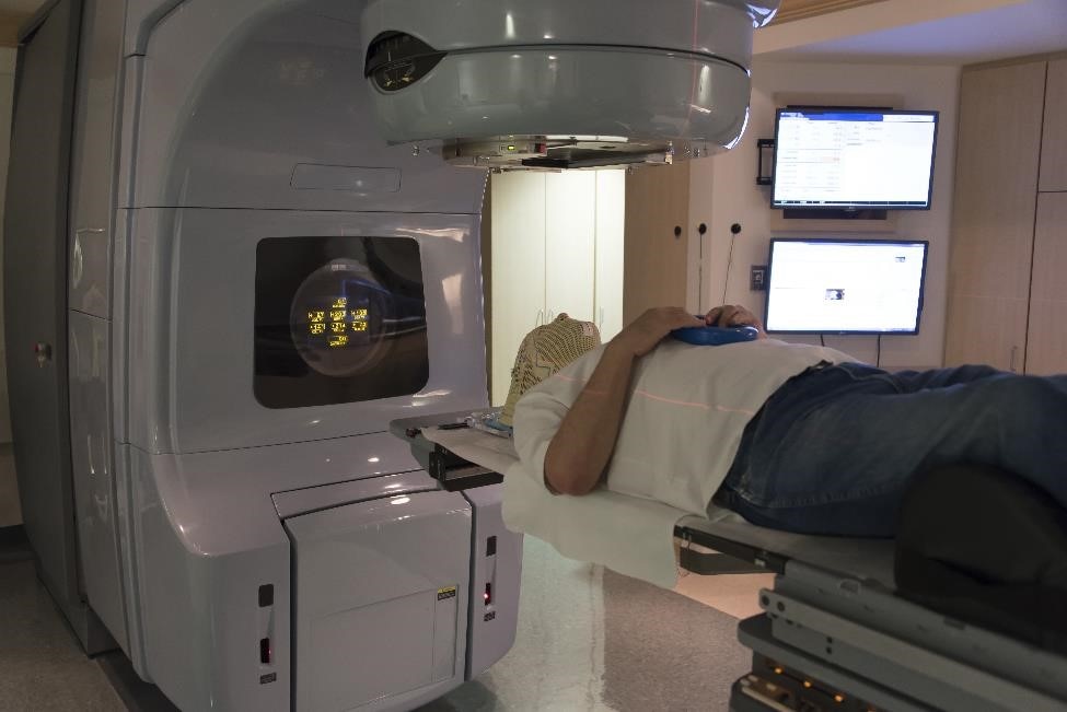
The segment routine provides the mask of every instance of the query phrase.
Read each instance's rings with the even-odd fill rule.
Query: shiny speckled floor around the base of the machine
[[[421,712],[724,711],[730,684],[749,665],[734,615],[754,611],[767,580],[686,576],[679,595],[564,559],[527,537],[511,652]],[[0,631],[4,712],[119,711],[123,699],[129,709],[174,710],[155,688],[137,686],[120,656],[82,655],[28,561],[0,563]]]

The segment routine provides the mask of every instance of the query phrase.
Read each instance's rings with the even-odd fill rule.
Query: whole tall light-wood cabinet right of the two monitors
[[[963,72],[946,365],[1067,371],[1067,319],[1054,317],[1067,303],[1065,217],[1062,197],[1039,194],[1039,176],[1056,185],[1065,162],[1056,63]]]

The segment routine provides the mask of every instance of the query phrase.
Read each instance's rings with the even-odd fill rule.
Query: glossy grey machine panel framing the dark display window
[[[477,218],[136,212],[128,354],[132,444],[149,452],[190,453],[305,442],[381,432],[391,420],[424,412],[484,407]],[[323,236],[417,243],[429,357],[428,381],[417,393],[299,408],[265,407],[257,400],[257,246],[269,237]],[[302,272],[297,277],[299,282]],[[290,336],[287,331],[280,338]]]

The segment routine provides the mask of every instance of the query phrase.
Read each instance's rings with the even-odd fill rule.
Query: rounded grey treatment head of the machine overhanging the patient
[[[672,163],[740,140],[778,3],[373,0],[364,75],[384,138],[454,165]]]

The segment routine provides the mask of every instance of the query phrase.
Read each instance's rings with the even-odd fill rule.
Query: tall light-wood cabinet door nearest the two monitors
[[[1021,371],[1045,63],[963,73],[946,365]]]

